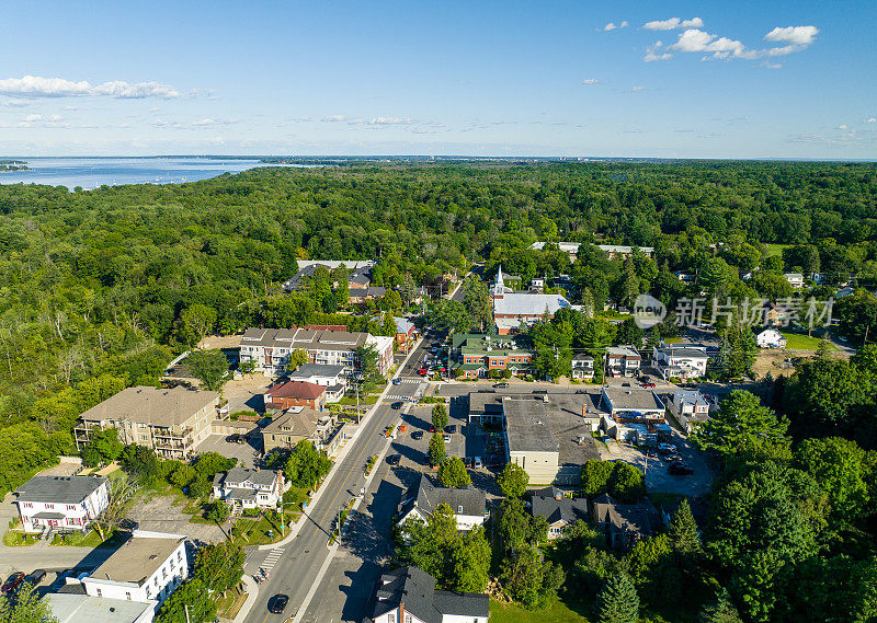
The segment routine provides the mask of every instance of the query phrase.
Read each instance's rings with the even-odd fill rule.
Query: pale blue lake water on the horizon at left
[[[16,158],[31,171],[0,172],[0,184],[48,184],[96,188],[106,184],[179,184],[240,173],[253,166],[271,166],[252,160],[197,157],[166,158]],[[286,165],[291,166],[291,165]],[[300,165],[299,165],[300,166]]]

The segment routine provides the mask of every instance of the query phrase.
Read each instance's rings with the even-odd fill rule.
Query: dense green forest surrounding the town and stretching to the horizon
[[[343,305],[311,291],[318,285],[283,291],[305,258],[378,259],[374,285],[402,292],[390,290],[392,305],[378,309],[476,262],[488,276],[499,264],[525,280],[568,275],[568,296],[597,314],[647,291],[672,305],[702,292],[828,298],[850,284],[859,289],[838,305],[840,330],[856,346],[874,343],[876,199],[874,164],[781,162],[354,162],[91,192],[0,185],[0,492],[70,451],[79,413],[127,385],[157,383],[174,354],[208,333],[369,327],[371,313],[335,313]],[[529,249],[536,241],[549,244]],[[570,264],[557,241],[654,254],[615,262],[585,244]],[[784,272],[820,273],[822,282],[793,292]],[[467,319],[472,310],[457,305],[433,305],[433,319],[482,322],[483,310]],[[537,354],[643,337],[588,316],[561,313],[534,327]],[[846,608],[839,621],[873,620],[863,612],[877,609],[875,353],[822,354],[768,380],[770,409],[745,396],[727,405],[702,439],[727,465],[703,544],[684,556],[640,551],[665,564],[625,567],[653,611],[669,608],[662,595],[677,596],[661,587],[687,578],[699,593],[719,581],[722,599],[751,621],[824,620],[836,603]],[[602,555],[588,550],[579,562],[573,580],[584,592],[603,573],[585,558]]]

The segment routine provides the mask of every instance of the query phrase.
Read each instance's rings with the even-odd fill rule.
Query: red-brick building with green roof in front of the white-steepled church
[[[489,377],[491,370],[525,374],[533,361],[533,353],[512,335],[455,334],[451,348],[459,361],[457,369],[467,379]]]

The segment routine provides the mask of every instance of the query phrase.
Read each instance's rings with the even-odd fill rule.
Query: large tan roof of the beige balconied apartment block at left
[[[179,426],[202,408],[217,404],[219,394],[185,388],[156,389],[147,385],[122,390],[82,414],[82,419],[129,419],[153,426]]]

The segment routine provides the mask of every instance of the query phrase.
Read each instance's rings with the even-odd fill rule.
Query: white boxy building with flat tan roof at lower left
[[[158,608],[186,577],[185,537],[135,530],[82,585],[91,597],[155,601]]]

